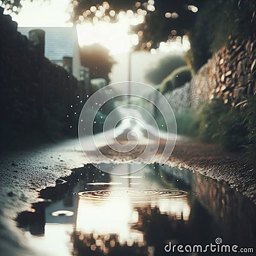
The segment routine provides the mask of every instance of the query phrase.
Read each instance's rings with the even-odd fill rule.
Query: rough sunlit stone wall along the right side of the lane
[[[243,95],[255,92],[255,79],[251,79],[255,70],[255,39],[230,40],[200,68],[190,84],[184,84],[165,96],[175,112],[198,109],[214,97],[235,106]]]

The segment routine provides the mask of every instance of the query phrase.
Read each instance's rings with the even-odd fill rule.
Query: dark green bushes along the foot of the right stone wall
[[[255,99],[254,99],[255,100]],[[256,100],[251,103],[256,108]],[[230,151],[245,148],[250,162],[256,159],[256,114],[247,116],[236,108],[224,104],[221,99],[214,99],[195,112],[186,110],[175,115],[179,134],[195,136],[201,141],[217,143]],[[249,120],[250,118],[250,120]]]

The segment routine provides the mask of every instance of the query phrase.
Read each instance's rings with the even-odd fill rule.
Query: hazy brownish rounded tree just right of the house
[[[109,51],[99,44],[81,48],[81,62],[90,69],[90,78],[104,78],[109,83],[109,73],[114,64]]]

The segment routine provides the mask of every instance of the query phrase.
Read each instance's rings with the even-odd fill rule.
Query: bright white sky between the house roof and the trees
[[[19,15],[11,13],[12,19],[18,22],[19,27],[67,27],[73,26],[69,21],[72,12],[70,0],[22,0],[22,10]],[[0,0],[1,5],[1,0]],[[130,24],[143,21],[141,15],[131,12],[118,14],[118,22],[106,21],[84,22],[77,24],[77,37],[79,45],[102,44],[109,49],[111,56],[116,61],[111,73],[111,82],[125,81],[128,78],[128,52],[132,45],[138,44],[138,35],[131,35]],[[183,45],[180,42],[161,42],[159,49],[152,49],[151,52],[132,53],[132,80],[146,83],[144,71],[156,65],[159,58],[168,53],[176,54],[187,51],[190,47],[185,38]]]

